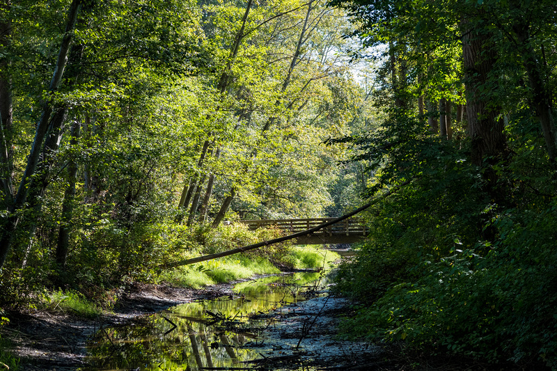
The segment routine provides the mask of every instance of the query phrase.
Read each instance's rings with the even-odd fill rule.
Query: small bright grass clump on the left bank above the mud
[[[46,310],[70,313],[84,318],[95,318],[102,309],[88,301],[83,294],[72,290],[55,290],[42,294],[42,304]]]

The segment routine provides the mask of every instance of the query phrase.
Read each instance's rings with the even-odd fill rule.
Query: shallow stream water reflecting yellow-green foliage
[[[233,297],[182,304],[100,331],[84,370],[251,370],[251,349],[274,319],[269,310],[315,297],[330,274],[260,278],[235,286]]]

